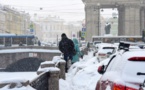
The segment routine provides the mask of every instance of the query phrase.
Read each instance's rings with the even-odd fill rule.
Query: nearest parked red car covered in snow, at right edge
[[[96,90],[140,90],[145,80],[145,50],[120,50],[98,72]]]

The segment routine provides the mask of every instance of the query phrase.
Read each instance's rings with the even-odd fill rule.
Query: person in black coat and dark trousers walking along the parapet
[[[72,60],[73,56],[73,49],[74,49],[74,43],[71,39],[69,39],[65,33],[61,35],[61,41],[59,42],[59,50],[64,55],[64,60],[66,61],[65,65],[65,72],[68,71],[68,61]]]

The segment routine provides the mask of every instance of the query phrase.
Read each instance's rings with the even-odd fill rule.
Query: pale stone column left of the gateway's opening
[[[86,40],[92,41],[92,36],[98,35],[99,8],[95,5],[86,5]]]

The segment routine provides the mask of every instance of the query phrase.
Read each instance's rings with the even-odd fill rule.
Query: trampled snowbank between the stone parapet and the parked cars
[[[69,72],[66,73],[66,80],[60,79],[60,90],[95,90],[96,83],[101,77],[97,72],[98,66],[106,64],[109,59],[98,63],[93,52],[74,63]]]

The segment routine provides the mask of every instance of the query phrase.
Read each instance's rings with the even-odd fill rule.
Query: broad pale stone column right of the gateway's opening
[[[135,5],[125,6],[125,35],[140,35],[140,8]]]

